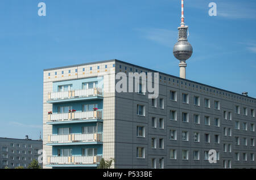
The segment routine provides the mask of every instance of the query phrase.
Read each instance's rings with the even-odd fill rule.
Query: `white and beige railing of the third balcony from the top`
[[[48,135],[49,143],[81,143],[81,142],[102,142],[102,134],[67,134]]]

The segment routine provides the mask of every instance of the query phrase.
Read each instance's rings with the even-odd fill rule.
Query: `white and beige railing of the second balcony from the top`
[[[90,112],[70,112],[48,114],[48,121],[82,120],[82,119],[102,119],[102,111],[94,110]]]

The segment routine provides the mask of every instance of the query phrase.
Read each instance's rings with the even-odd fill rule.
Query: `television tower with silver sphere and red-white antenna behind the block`
[[[193,53],[192,45],[187,40],[188,26],[184,23],[184,0],[181,0],[181,24],[178,27],[179,38],[174,45],[174,56],[180,60],[180,78],[186,79],[186,60],[189,59]]]

